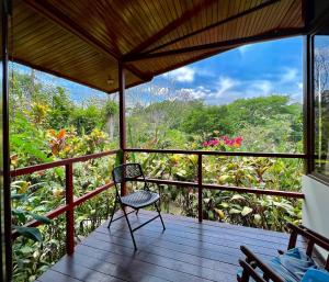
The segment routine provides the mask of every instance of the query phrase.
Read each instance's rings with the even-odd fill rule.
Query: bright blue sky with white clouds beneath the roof
[[[29,71],[27,68],[20,70]],[[38,78],[67,88],[77,102],[92,95],[104,97],[102,92],[53,76],[38,74]],[[273,93],[287,94],[293,102],[302,102],[302,81],[303,38],[292,37],[246,45],[219,54],[160,75],[128,93],[134,93],[144,102],[180,97],[224,104],[239,98]]]

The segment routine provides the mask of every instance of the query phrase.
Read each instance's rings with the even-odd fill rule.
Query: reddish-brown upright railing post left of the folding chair
[[[75,206],[73,206],[73,163],[65,166],[66,183],[66,252],[72,255],[75,251]]]

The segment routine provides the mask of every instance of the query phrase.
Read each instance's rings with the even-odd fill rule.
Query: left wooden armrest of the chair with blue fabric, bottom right
[[[284,282],[284,280],[277,275],[272,268],[270,268],[265,262],[263,262],[258,256],[256,256],[247,247],[241,246],[241,251],[246,255],[246,260],[240,266],[243,268],[241,282],[249,281],[249,277],[252,277],[258,282],[268,281],[268,279],[273,282]],[[259,268],[263,272],[263,278],[257,272],[254,268]]]

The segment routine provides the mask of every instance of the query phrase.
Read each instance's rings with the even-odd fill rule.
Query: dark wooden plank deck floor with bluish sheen
[[[140,211],[134,222],[144,222],[155,214]],[[138,250],[124,218],[114,222],[111,232],[106,223],[76,247],[73,256],[65,256],[38,282],[196,282],[236,281],[240,245],[249,246],[261,257],[286,249],[288,236],[256,228],[163,214],[167,229],[160,221],[135,233]]]

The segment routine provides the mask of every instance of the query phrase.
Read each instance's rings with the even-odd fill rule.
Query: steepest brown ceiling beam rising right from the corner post
[[[181,16],[179,16],[174,21],[170,22],[162,30],[158,31],[156,34],[154,34],[152,36],[150,36],[149,38],[147,38],[145,42],[143,42],[141,44],[139,44],[136,48],[134,48],[128,54],[126,54],[124,56],[124,59],[125,59],[125,57],[129,57],[129,56],[133,56],[135,54],[139,54],[140,52],[143,52],[144,49],[146,49],[149,45],[156,43],[161,37],[163,37],[164,35],[167,35],[168,33],[172,32],[174,29],[183,25],[191,18],[196,16],[197,14],[200,14],[201,12],[203,12],[205,8],[212,5],[214,2],[217,2],[217,1],[218,0],[204,0],[204,1],[201,1],[198,4],[196,4],[194,8],[190,9],[190,10],[186,10]]]

